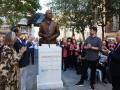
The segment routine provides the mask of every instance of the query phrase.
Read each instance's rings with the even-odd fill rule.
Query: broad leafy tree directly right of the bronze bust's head
[[[91,0],[52,0],[49,5],[61,16],[59,21],[71,28],[73,36],[75,31],[81,32],[84,39],[85,27],[91,25],[94,18]]]

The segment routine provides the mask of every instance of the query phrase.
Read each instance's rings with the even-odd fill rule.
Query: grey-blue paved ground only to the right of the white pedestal
[[[75,71],[68,70],[63,72],[65,90],[90,90],[89,81],[85,82],[84,87],[76,86],[75,84],[79,81],[79,79],[80,76],[76,75]],[[95,90],[111,90],[111,85],[97,82]]]

